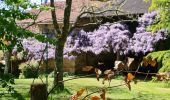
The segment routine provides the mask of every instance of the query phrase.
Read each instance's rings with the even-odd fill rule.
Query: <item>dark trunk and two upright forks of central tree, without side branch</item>
[[[66,0],[66,7],[64,10],[64,20],[63,20],[64,25],[62,30],[60,30],[59,24],[57,22],[54,0],[50,0],[50,1],[51,1],[50,6],[53,7],[53,9],[51,10],[53,25],[57,32],[56,37],[58,39],[58,42],[56,44],[56,51],[55,51],[56,68],[54,70],[54,85],[57,85],[57,89],[60,91],[64,89],[64,83],[61,82],[63,80],[63,49],[64,49],[66,38],[69,35],[69,31],[70,31],[69,22],[70,22],[72,0]]]

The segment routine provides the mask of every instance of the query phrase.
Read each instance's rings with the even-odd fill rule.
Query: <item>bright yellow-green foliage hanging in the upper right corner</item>
[[[149,0],[145,0],[149,1]],[[150,28],[153,31],[166,28],[170,33],[170,2],[169,0],[152,0],[150,10],[156,10],[160,14],[160,20]]]

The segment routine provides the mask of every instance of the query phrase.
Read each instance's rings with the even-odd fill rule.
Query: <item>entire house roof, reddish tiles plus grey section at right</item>
[[[115,0],[114,2],[120,3],[122,1],[124,0]],[[109,3],[100,2],[100,0],[73,0],[70,22],[74,22],[76,20],[77,16],[80,14],[80,10],[82,9],[84,5],[97,5],[101,10],[107,9],[108,7],[110,7],[109,9],[116,8],[114,5],[109,5]],[[144,0],[125,0],[125,2],[120,8],[120,10],[122,10],[125,13],[119,13],[119,15],[146,13],[148,12],[149,6],[150,6],[150,2],[146,3],[144,2]],[[57,8],[56,15],[57,15],[58,23],[63,23],[65,1],[55,2],[55,7]],[[32,9],[29,12],[38,13],[39,10]],[[101,14],[99,16],[103,16],[103,15],[114,16],[115,11],[105,12],[104,14]],[[83,16],[83,17],[86,17],[86,16]],[[26,20],[19,21],[18,23],[30,23],[30,22],[33,22],[33,20],[26,19]],[[51,11],[50,10],[42,11],[39,14],[36,22],[38,24],[52,23]]]

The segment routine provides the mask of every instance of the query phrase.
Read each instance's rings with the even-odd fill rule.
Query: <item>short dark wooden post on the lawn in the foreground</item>
[[[32,84],[30,89],[30,100],[47,100],[46,84]]]

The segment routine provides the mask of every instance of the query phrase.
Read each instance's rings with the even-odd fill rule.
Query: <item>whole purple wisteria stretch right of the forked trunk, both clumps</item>
[[[153,11],[139,17],[135,33],[130,33],[127,25],[120,23],[106,23],[93,32],[81,30],[77,36],[70,35],[67,38],[64,54],[90,51],[98,55],[102,52],[113,52],[118,55],[117,60],[119,55],[146,55],[155,50],[160,40],[167,38],[165,29],[155,33],[147,30],[147,27],[157,20],[158,15],[158,12]]]

